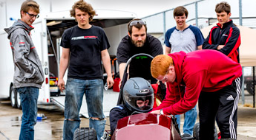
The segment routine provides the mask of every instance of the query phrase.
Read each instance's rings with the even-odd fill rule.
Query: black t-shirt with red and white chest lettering
[[[66,29],[60,46],[70,49],[68,77],[81,80],[103,79],[102,50],[110,47],[102,28],[82,29],[77,25]]]

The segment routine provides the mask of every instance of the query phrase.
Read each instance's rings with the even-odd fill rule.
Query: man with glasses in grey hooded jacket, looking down
[[[30,37],[31,24],[39,17],[39,4],[33,0],[22,3],[21,19],[12,27],[4,29],[10,39],[13,52],[13,86],[18,91],[22,104],[22,127],[19,139],[34,139],[37,99],[44,82],[42,64]]]

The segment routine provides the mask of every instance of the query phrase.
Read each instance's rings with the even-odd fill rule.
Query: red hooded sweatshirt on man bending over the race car
[[[216,50],[177,52],[169,54],[174,60],[176,80],[167,83],[166,96],[155,110],[165,114],[186,113],[197,104],[201,91],[214,92],[231,85],[242,75],[242,67]],[[185,92],[186,87],[186,92]]]

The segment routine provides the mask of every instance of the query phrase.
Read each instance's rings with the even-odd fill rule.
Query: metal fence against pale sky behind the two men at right
[[[198,1],[191,2],[190,4],[183,5],[188,10],[188,17],[186,22],[188,24],[197,26],[200,29],[203,27],[208,27],[209,24],[212,24],[212,22],[211,23],[209,22],[209,19],[213,19],[213,18],[216,19],[216,13],[214,10],[215,4],[221,1],[223,0],[198,0]],[[243,6],[244,8],[242,7],[242,0],[226,0],[226,1],[228,1],[229,4],[232,4],[232,18],[237,19],[237,20],[234,20],[235,24],[242,25],[243,22],[247,24],[246,19],[249,19],[250,24],[248,26],[256,27],[256,23],[252,22],[252,19],[256,21],[255,15],[251,14],[252,11],[250,13],[246,11],[246,8],[248,9],[248,7],[246,7],[247,3],[253,4],[253,1],[255,0],[243,2],[243,4],[245,4]],[[256,6],[256,1],[255,1],[255,6]],[[251,9],[251,10],[254,10],[254,9]],[[164,35],[167,29],[170,29],[171,27],[176,26],[176,23],[173,17],[173,11],[174,11],[174,8],[170,10],[165,10],[161,13],[155,13],[154,15],[148,15],[142,18],[144,21],[147,22],[148,32],[151,34],[162,32]],[[245,12],[244,13],[245,16],[243,18],[242,18],[242,11]]]

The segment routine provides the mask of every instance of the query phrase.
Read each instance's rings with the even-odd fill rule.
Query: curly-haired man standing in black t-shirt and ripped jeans
[[[68,68],[63,139],[73,139],[73,133],[80,125],[79,111],[85,94],[90,117],[89,125],[96,130],[99,140],[105,129],[102,108],[102,63],[108,74],[108,88],[114,84],[108,54],[110,45],[103,29],[89,24],[95,15],[91,4],[77,1],[70,10],[70,15],[76,18],[78,25],[65,30],[60,44],[62,46],[58,83],[60,91],[65,89],[63,77]]]

